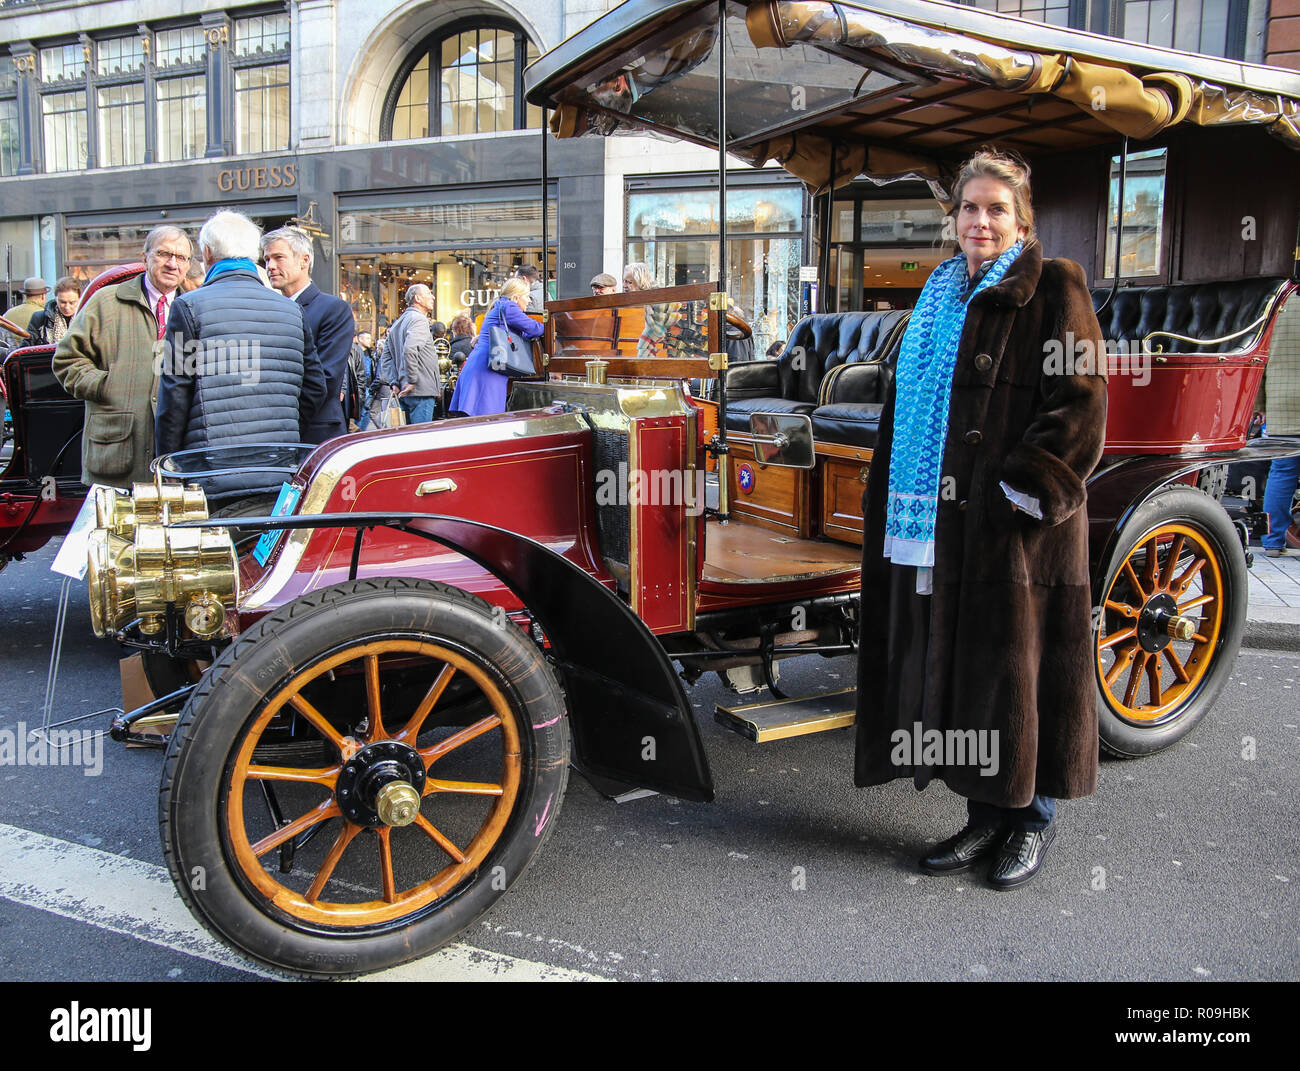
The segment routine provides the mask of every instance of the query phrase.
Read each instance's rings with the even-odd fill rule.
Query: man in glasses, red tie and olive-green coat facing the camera
[[[82,484],[130,487],[150,478],[157,347],[194,247],[183,230],[144,239],[144,274],[96,290],[55,350],[58,382],[86,402]]]

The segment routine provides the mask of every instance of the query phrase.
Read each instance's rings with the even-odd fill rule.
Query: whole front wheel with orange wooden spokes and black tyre
[[[268,746],[286,723],[313,762]],[[563,697],[517,626],[443,585],[352,581],[264,619],[195,689],[164,769],[164,849],[186,905],[248,955],[380,970],[508,889],[567,772]]]

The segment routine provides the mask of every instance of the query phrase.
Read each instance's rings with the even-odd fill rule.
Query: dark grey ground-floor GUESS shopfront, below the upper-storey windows
[[[495,181],[507,164],[521,181]],[[601,233],[582,211],[599,196],[601,146],[575,143],[552,152],[549,165],[550,287],[577,295],[590,277],[578,265],[601,255]],[[542,263],[541,138],[32,177],[5,183],[0,227],[25,252],[16,260],[20,285],[25,272],[48,276],[51,266],[84,281],[139,260],[153,226],[174,224],[196,238],[220,208],[243,212],[263,229],[316,221],[322,233],[312,276],[352,304],[359,326],[386,328],[416,282],[432,286],[434,316],[450,321],[464,309],[484,312],[517,265]]]

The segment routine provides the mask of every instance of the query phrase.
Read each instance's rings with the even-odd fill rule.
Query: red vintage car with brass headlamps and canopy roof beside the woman
[[[1143,755],[1195,725],[1247,607],[1244,548],[1195,477],[1286,451],[1247,433],[1300,320],[1300,77],[928,0],[633,0],[528,84],[559,136],[775,159],[823,218],[859,174],[942,200],[972,147],[1024,153],[1044,244],[1109,281],[1112,356],[1149,373],[1113,367],[1089,482],[1101,743]],[[1108,191],[1122,217],[1136,146],[1167,148],[1180,198],[1160,279],[1122,278],[1123,242],[1095,252],[1098,226],[1123,233]],[[169,733],[164,851],[213,933],[306,975],[439,946],[520,877],[571,763],[610,795],[712,797],[682,688],[706,671],[776,693],[719,710],[751,740],[852,721],[852,690],[786,699],[776,676],[855,649],[861,497],[906,312],[814,315],[779,359],[728,368],[727,307],[720,285],[552,302],[507,412],[178,454],[98,493],[96,632],[178,667],[117,732]],[[285,490],[273,513],[237,507],[231,534],[202,487],[233,469]]]

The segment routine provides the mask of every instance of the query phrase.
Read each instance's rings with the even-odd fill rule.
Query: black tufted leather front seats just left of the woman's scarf
[[[907,311],[836,312],[806,316],[794,325],[785,350],[774,361],[754,361],[727,374],[727,428],[748,432],[751,413],[809,413],[826,398],[831,377],[849,367],[880,361],[897,348]],[[842,372],[841,372],[842,370]],[[850,381],[838,400],[883,400],[879,372]],[[859,396],[861,395],[861,396]]]

